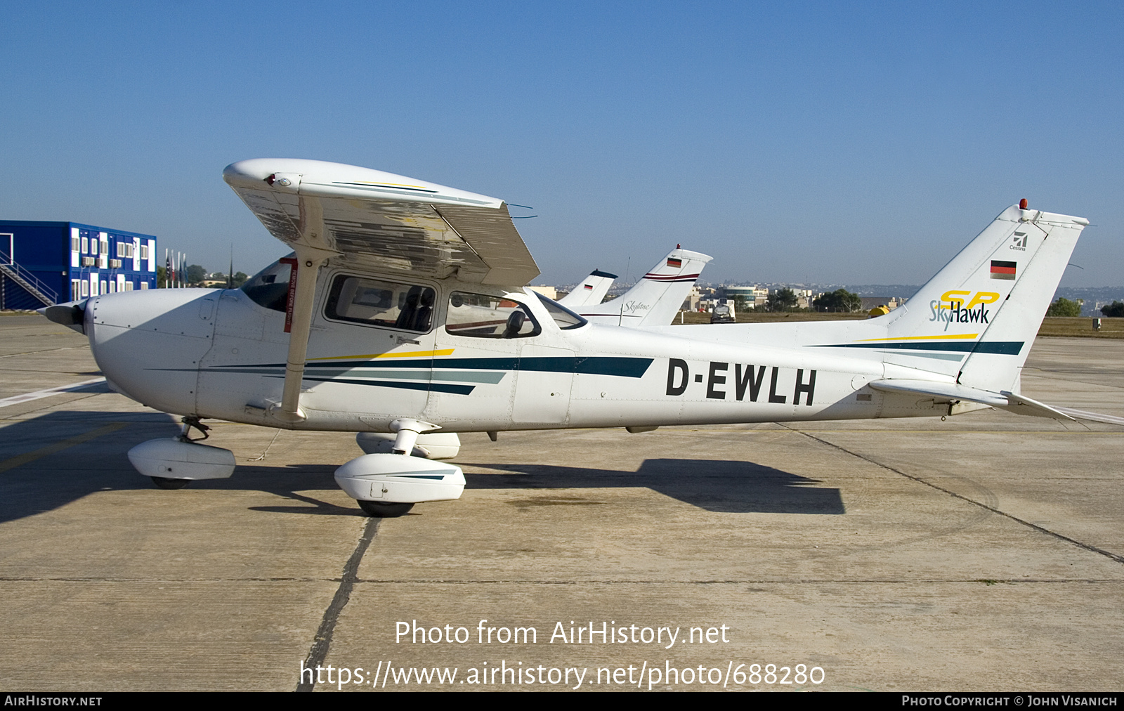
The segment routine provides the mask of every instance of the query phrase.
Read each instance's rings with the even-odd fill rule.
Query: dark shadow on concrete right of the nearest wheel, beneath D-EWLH
[[[751,461],[647,459],[636,471],[555,465],[474,464],[513,474],[465,474],[469,488],[617,488],[643,486],[720,513],[845,513],[837,488]]]

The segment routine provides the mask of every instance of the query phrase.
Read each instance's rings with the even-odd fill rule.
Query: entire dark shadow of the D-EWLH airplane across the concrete
[[[112,424],[120,426],[70,447],[55,448],[60,442]],[[160,413],[73,411],[55,411],[3,428],[0,430],[0,462],[12,466],[0,471],[0,523],[53,511],[96,492],[152,488],[152,483],[129,464],[127,452],[145,440],[171,438],[178,431],[175,420]],[[21,462],[18,460],[21,456],[33,458]],[[637,471],[490,462],[473,462],[472,466],[510,470],[511,474],[466,474],[469,488],[647,487],[714,512],[844,513],[837,488],[818,487],[815,486],[819,483],[817,479],[746,461],[649,459]],[[334,471],[333,465],[272,466],[239,461],[232,478],[198,482],[191,486],[261,490],[292,501],[292,505],[253,506],[255,511],[364,515],[357,506],[341,506],[315,496],[317,490],[336,489]]]

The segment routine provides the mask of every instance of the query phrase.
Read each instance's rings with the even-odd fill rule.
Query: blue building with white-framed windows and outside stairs
[[[0,308],[40,308],[156,288],[156,237],[56,222],[0,220]]]

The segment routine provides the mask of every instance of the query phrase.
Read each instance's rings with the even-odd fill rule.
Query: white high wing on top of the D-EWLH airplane
[[[274,237],[360,267],[523,287],[538,267],[502,200],[368,168],[253,159],[223,179]]]

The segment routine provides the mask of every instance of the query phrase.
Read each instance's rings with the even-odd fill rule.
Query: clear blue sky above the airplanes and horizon
[[[228,163],[338,161],[535,208],[543,270],[921,284],[1006,206],[1124,284],[1124,6],[0,2],[0,217],[284,249]]]

